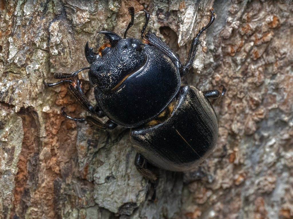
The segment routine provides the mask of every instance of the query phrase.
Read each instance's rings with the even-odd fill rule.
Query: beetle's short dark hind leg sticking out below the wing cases
[[[154,183],[157,179],[156,175],[148,168],[151,165],[146,159],[144,159],[139,153],[136,154],[134,165],[137,168],[137,171],[141,173],[144,178]],[[152,165],[151,165],[152,166]]]

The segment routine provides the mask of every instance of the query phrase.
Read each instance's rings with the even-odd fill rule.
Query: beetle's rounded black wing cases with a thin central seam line
[[[212,105],[196,87],[185,85],[164,111],[131,129],[134,148],[151,164],[166,170],[195,168],[217,144],[218,121]]]

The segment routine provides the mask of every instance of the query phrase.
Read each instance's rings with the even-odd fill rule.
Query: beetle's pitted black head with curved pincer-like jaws
[[[110,41],[99,54],[93,53],[86,45],[85,53],[91,64],[88,78],[91,84],[99,86],[103,91],[111,91],[118,84],[142,67],[147,59],[143,43],[139,39],[122,39],[113,32],[102,31]]]

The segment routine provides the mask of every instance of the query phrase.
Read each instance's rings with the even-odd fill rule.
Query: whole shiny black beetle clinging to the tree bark
[[[112,130],[117,125],[129,127],[132,145],[137,150],[135,166],[146,178],[156,176],[148,164],[170,171],[187,171],[195,168],[214,149],[218,138],[218,120],[208,99],[224,94],[218,90],[200,91],[190,85],[180,85],[180,77],[188,73],[197,51],[200,34],[215,19],[213,11],[207,26],[193,38],[185,65],[179,55],[156,34],[142,28],[143,41],[127,38],[127,30],[133,25],[134,8],[129,7],[131,22],[124,39],[111,31],[101,31],[109,39],[98,53],[85,46],[86,59],[91,67],[71,74],[54,74],[55,79],[65,79],[54,86],[69,82],[69,92],[91,114],[109,119],[103,124],[88,116],[84,119],[69,117],[75,121],[88,121],[99,129]],[[94,88],[97,104],[93,107],[81,91],[78,79],[71,80],[80,71],[89,69],[88,78]]]

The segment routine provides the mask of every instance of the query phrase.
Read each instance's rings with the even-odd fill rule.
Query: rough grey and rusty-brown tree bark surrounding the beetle
[[[62,106],[86,113],[66,85],[42,84],[87,67],[86,41],[96,50],[106,42],[98,31],[123,36],[128,6],[136,15],[127,35],[140,39],[146,8],[148,29],[181,60],[209,9],[217,14],[182,84],[227,88],[213,103],[218,145],[197,170],[159,170],[156,189],[134,167],[128,129],[65,119]],[[292,1],[28,0],[0,9],[0,218],[293,218]],[[87,72],[78,77],[94,103]]]

